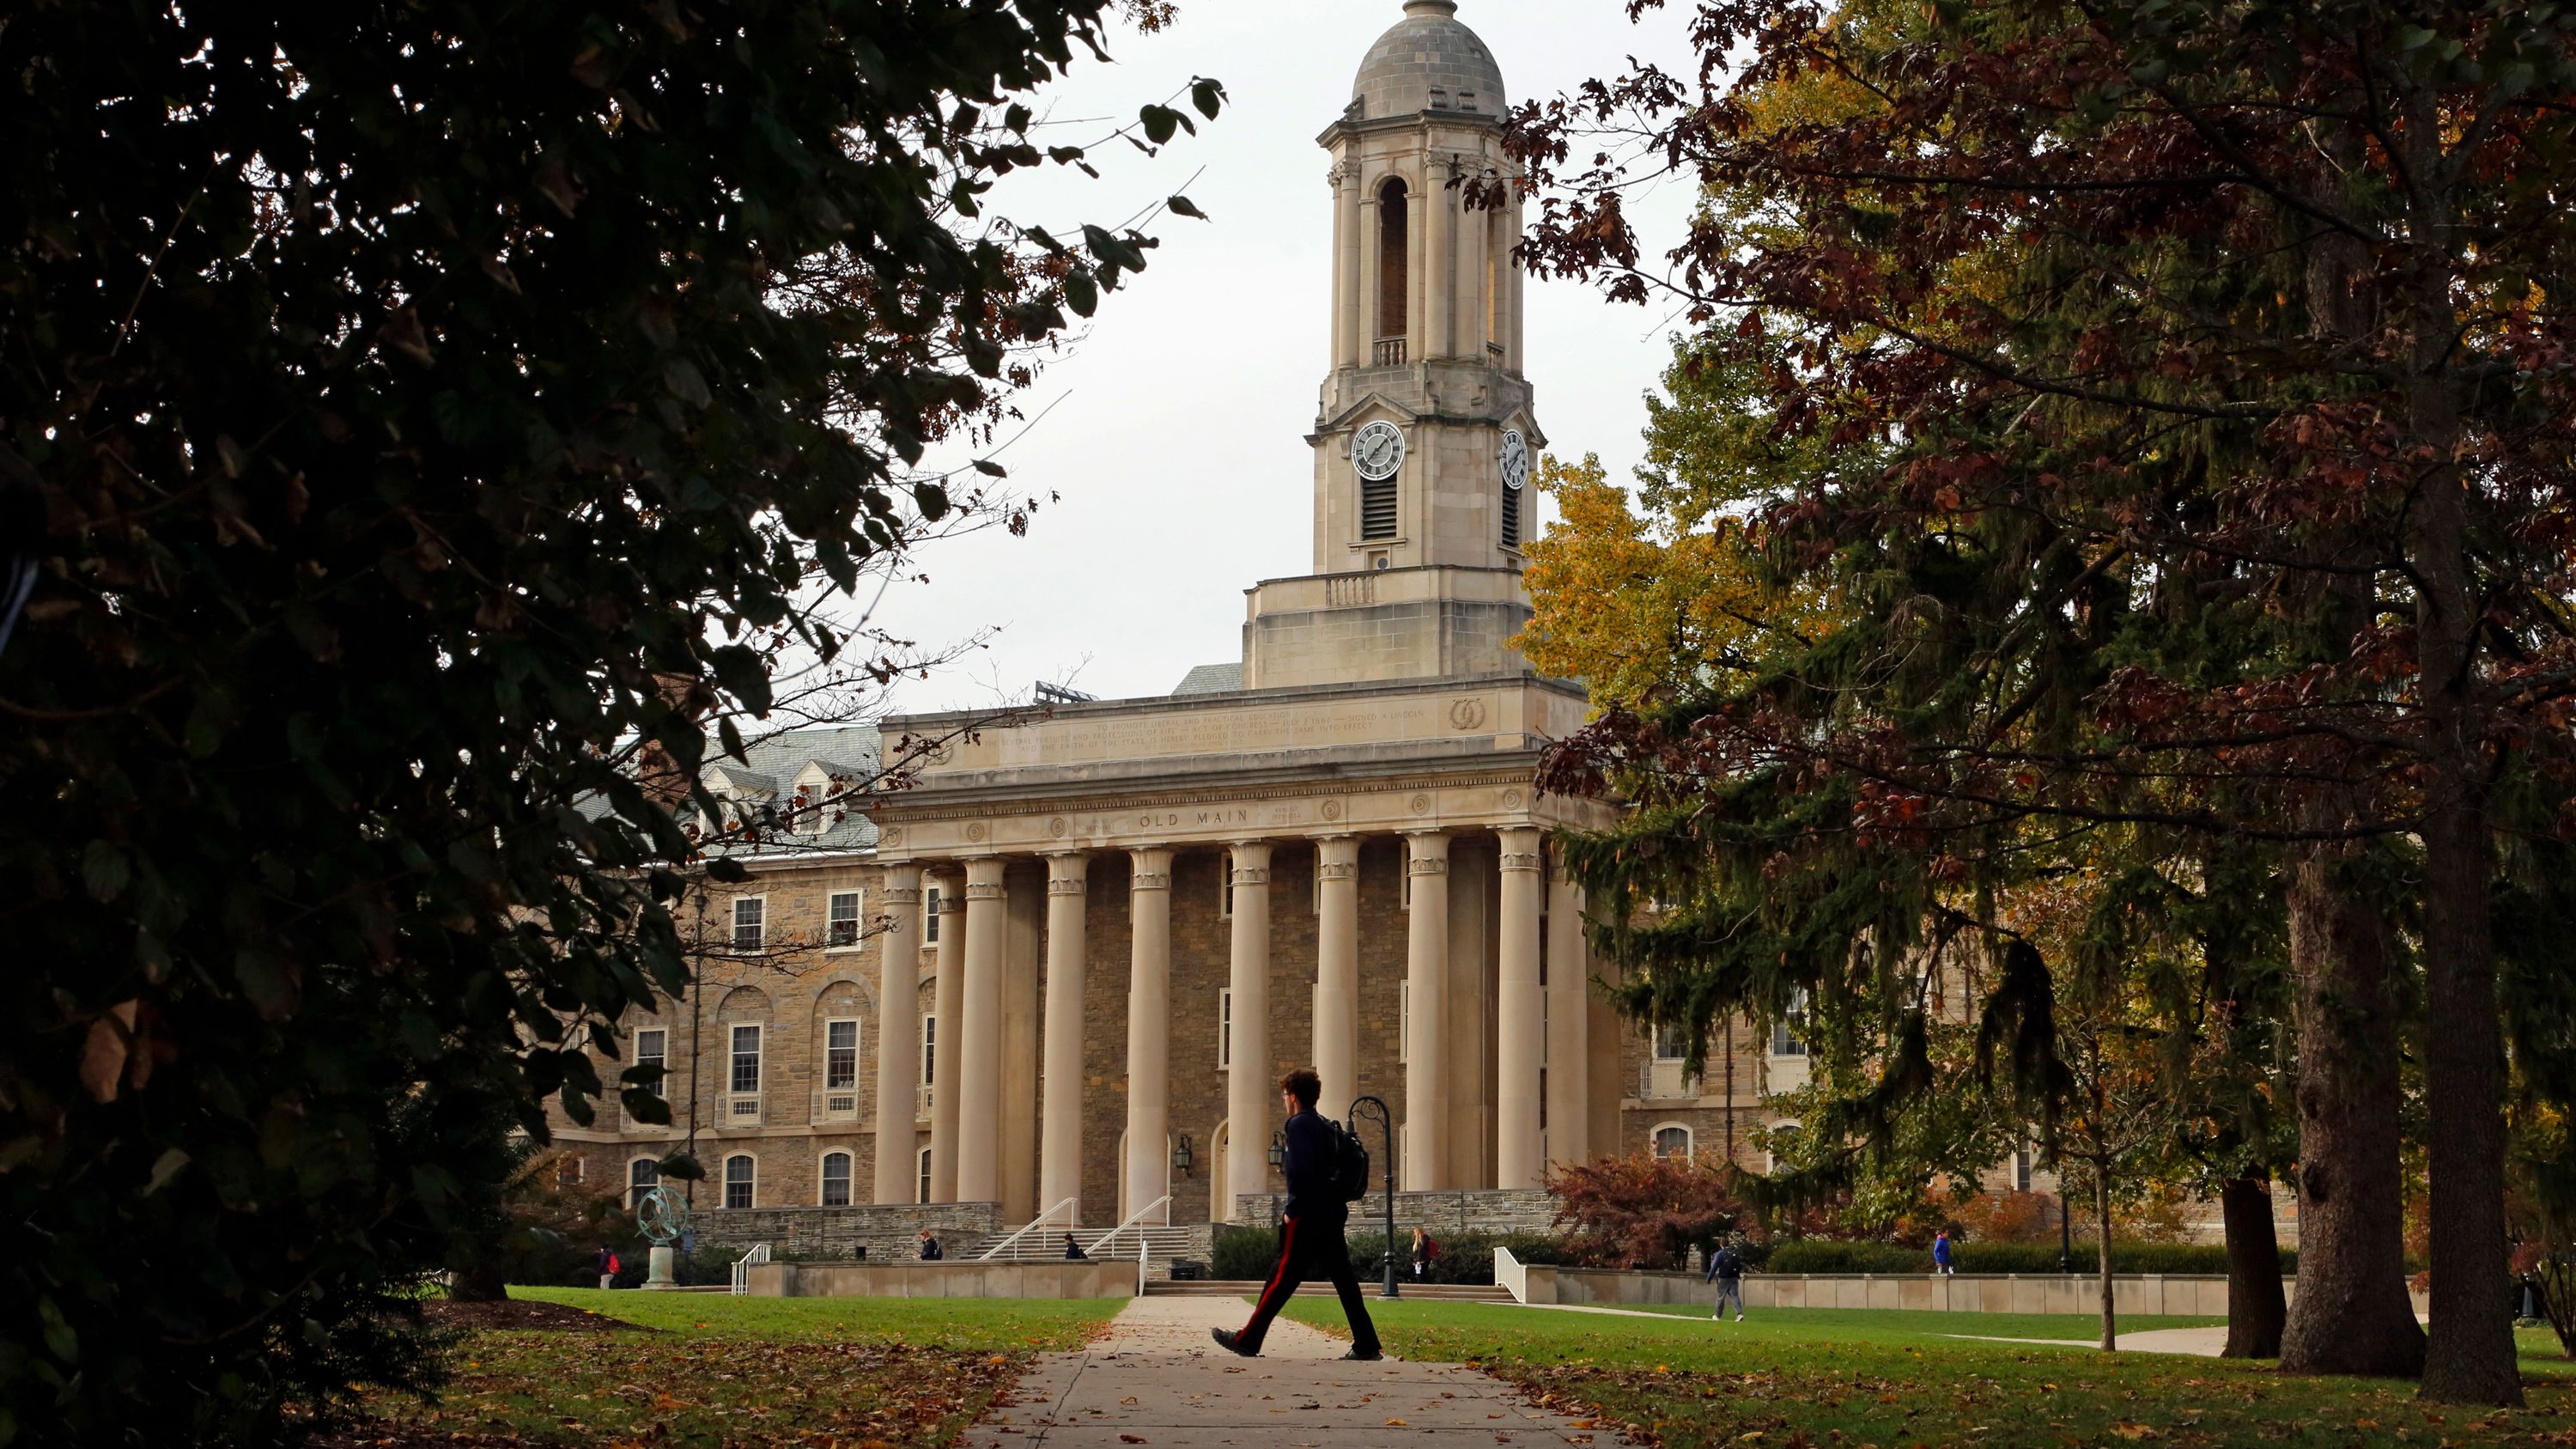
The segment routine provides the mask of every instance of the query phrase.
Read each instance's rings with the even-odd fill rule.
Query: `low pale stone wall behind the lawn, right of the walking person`
[[[1587,1307],[1708,1305],[1700,1274],[1620,1274],[1520,1266],[1520,1302]],[[1497,1279],[1499,1279],[1497,1263]],[[2295,1292],[2285,1279],[2282,1292]],[[2099,1312],[2102,1281],[2084,1274],[1747,1274],[1744,1307],[1904,1307],[1919,1312]],[[2120,1312],[2226,1318],[2228,1281],[2215,1274],[2112,1274]]]

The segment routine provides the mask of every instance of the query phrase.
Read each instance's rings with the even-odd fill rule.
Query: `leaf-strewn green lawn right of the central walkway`
[[[1342,1330],[1329,1299],[1288,1312]],[[2522,1336],[2530,1408],[2481,1413],[2416,1405],[2409,1385],[2285,1379],[2264,1364],[1947,1338],[2081,1338],[2089,1318],[1770,1310],[1710,1323],[1471,1302],[1370,1302],[1370,1315],[1401,1356],[1479,1364],[1667,1449],[2576,1444],[2576,1374],[2548,1333]]]

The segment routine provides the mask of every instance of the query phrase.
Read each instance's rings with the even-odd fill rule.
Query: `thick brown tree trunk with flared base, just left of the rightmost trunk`
[[[2342,812],[2313,804],[2324,828]],[[2290,846],[2290,1016],[2298,1024],[2298,1297],[2285,1374],[2424,1372],[2406,1299],[2398,1183],[2398,982],[2391,926],[2354,879],[2362,846]]]

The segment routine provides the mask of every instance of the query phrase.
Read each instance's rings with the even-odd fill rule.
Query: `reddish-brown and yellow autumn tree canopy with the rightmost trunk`
[[[1759,379],[1777,438],[1870,467],[1749,508],[1777,588],[1837,598],[1844,629],[1558,761],[1558,784],[1646,781],[1641,830],[1595,843],[1595,874],[1759,882],[1770,936],[1728,941],[1777,998],[1857,938],[1914,949],[1927,913],[1991,928],[1963,902],[2027,866],[2032,830],[2269,838],[2303,1000],[2370,1003],[2336,1052],[2370,1070],[2398,1042],[2391,908],[2411,908],[2424,1387],[2517,1400],[2491,1310],[2491,902],[2499,838],[2576,794],[2576,325],[2550,286],[2576,242],[2576,15],[1695,15],[1695,77],[1641,67],[1515,116],[1546,193],[1530,255],[1677,299],[1718,366]],[[1620,206],[1625,160],[1716,196],[1662,266]],[[2393,1114],[2354,1142],[2388,1171],[2339,1191],[2393,1178]],[[2378,1364],[2403,1372],[2396,1318]]]

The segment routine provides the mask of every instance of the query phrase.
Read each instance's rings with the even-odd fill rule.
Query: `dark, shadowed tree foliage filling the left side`
[[[984,214],[1118,10],[0,18],[0,1444],[417,1379],[495,1124],[662,1111],[580,1049],[685,969],[629,766],[835,655],[925,446],[1144,266]]]

